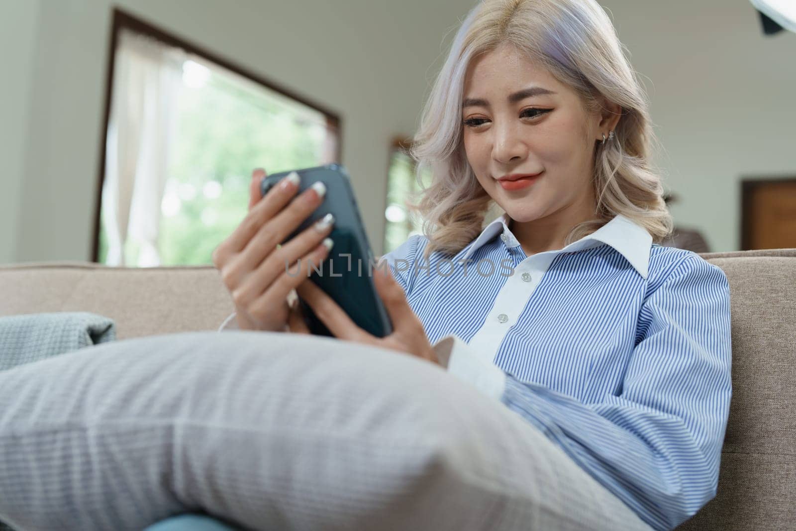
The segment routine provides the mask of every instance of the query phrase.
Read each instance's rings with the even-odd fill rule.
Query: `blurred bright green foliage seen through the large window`
[[[273,174],[333,162],[324,159],[325,115],[248,85],[231,72],[213,71],[203,86],[181,90],[160,213],[164,266],[212,264],[213,249],[247,213],[255,168]],[[100,232],[104,262],[107,237]],[[139,251],[127,238],[127,264],[138,263]]]

